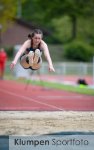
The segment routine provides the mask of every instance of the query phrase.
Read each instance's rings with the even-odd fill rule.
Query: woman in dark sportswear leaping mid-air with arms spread
[[[19,51],[17,52],[14,60],[10,64],[10,69],[13,69],[18,59],[20,64],[25,69],[38,70],[42,65],[42,52],[48,62],[49,71],[55,72],[50,57],[47,44],[42,40],[43,33],[40,29],[35,29],[32,34],[28,35],[28,40],[24,42]]]

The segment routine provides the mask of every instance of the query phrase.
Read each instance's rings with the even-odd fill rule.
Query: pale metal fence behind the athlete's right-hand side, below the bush
[[[55,74],[58,75],[79,75],[79,76],[92,76],[93,64],[92,63],[76,63],[76,62],[59,62],[54,63]],[[48,64],[43,63],[40,73],[48,74]]]

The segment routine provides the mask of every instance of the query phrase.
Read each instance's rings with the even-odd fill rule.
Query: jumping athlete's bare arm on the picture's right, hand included
[[[49,64],[49,71],[54,71],[55,72],[55,69],[54,69],[53,64],[52,64],[52,59],[51,59],[51,56],[50,56],[50,53],[49,53],[48,46],[44,41],[42,41],[42,48],[43,48],[44,56],[47,59],[48,64]]]

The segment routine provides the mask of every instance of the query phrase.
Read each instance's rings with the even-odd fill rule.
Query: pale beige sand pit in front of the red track
[[[0,135],[94,131],[92,111],[0,111]]]

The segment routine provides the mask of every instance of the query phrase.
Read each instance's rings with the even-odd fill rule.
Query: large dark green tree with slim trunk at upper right
[[[69,16],[72,23],[72,38],[77,36],[77,19],[94,15],[94,0],[36,0],[44,20],[50,22],[54,18]]]

